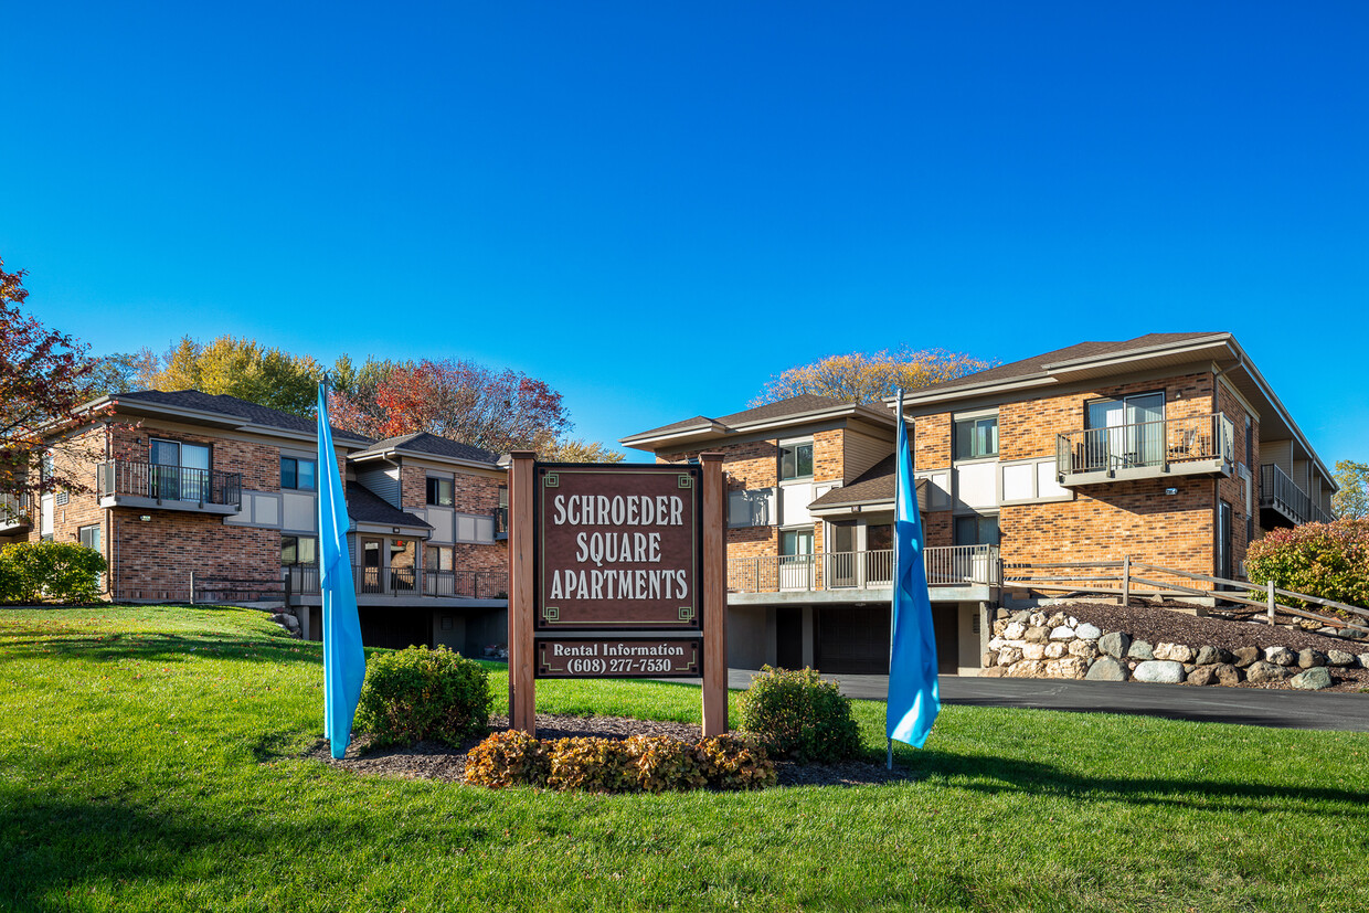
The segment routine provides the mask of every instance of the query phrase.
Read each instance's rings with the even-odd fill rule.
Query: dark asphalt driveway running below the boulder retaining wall
[[[728,686],[750,684],[747,669],[728,669]],[[884,675],[832,675],[842,693],[883,701]],[[942,675],[943,705],[1020,706],[1073,713],[1135,713],[1198,723],[1240,723],[1288,730],[1369,732],[1369,694],[1336,691],[1266,691],[1264,689],[1190,687],[1057,679],[977,679]]]

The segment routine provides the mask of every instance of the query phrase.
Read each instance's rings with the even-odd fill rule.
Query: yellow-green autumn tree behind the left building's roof
[[[152,375],[156,390],[200,390],[314,415],[323,368],[311,356],[294,356],[246,337],[222,335],[201,344],[183,337],[162,356]]]

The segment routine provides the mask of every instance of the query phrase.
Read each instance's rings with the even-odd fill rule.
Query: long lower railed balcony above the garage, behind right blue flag
[[[927,584],[934,600],[987,598],[980,590],[999,584],[998,546],[934,546],[923,552]],[[853,602],[888,598],[894,586],[894,552],[832,552],[826,554],[763,554],[728,558],[730,602],[761,602],[761,594],[802,594],[802,601],[821,594],[823,601]],[[936,593],[943,589],[945,593]],[[951,594],[954,589],[954,594]],[[883,590],[875,595],[872,590]],[[967,594],[962,590],[975,590]],[[742,597],[742,598],[738,598]]]

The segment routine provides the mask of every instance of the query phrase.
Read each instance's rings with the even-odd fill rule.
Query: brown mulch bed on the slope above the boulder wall
[[[1176,610],[1186,609],[1186,610]],[[1080,621],[1088,621],[1108,631],[1125,631],[1135,641],[1155,643],[1184,643],[1194,649],[1201,646],[1221,646],[1235,650],[1243,646],[1257,646],[1261,650],[1270,646],[1285,646],[1292,652],[1312,647],[1327,653],[1328,650],[1344,650],[1347,653],[1369,653],[1369,643],[1346,638],[1331,636],[1317,631],[1303,631],[1296,627],[1287,627],[1291,617],[1276,616],[1275,621],[1285,624],[1266,624],[1264,612],[1250,613],[1250,621],[1198,617],[1191,615],[1191,605],[1165,604],[1144,605],[1132,602],[1131,605],[1110,605],[1106,602],[1071,602],[1069,605],[1047,606],[1040,609],[1046,615],[1064,612]],[[1358,691],[1369,687],[1369,669],[1331,668],[1333,691]],[[1242,683],[1238,687],[1261,687]]]

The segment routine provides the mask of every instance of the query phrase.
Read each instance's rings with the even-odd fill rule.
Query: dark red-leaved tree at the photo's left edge
[[[26,270],[5,272],[0,259],[0,494],[33,498],[56,489],[86,491],[88,472],[73,434],[90,422],[75,409],[86,398],[92,361],[85,346],[23,312]],[[45,453],[47,461],[40,472]],[[60,459],[60,457],[66,459]],[[8,517],[16,505],[0,505]]]

